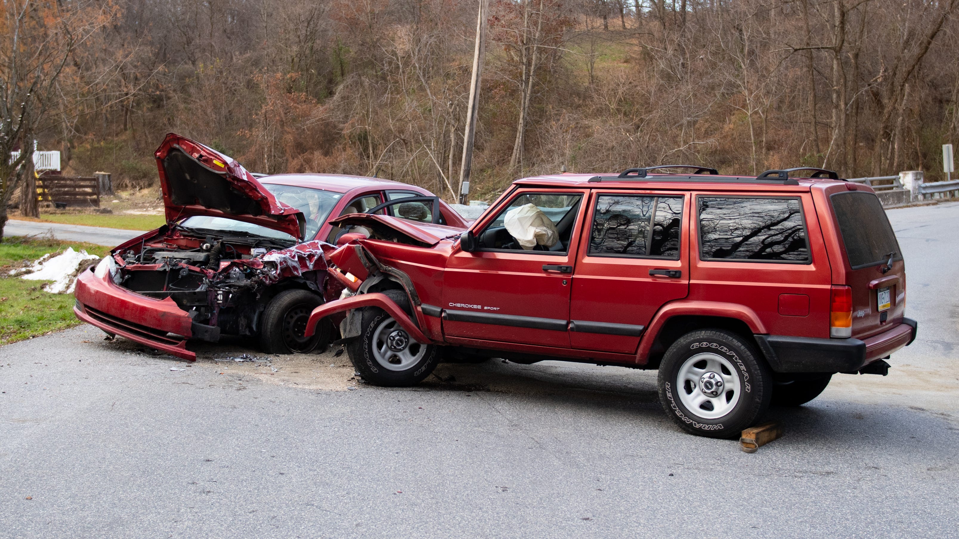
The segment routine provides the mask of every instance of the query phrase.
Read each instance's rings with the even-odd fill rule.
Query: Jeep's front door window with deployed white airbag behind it
[[[573,235],[573,222],[576,210],[582,195],[566,195],[561,193],[524,193],[513,199],[491,223],[477,235],[479,250],[524,250],[520,241],[506,230],[506,214],[510,210],[532,204],[533,207],[523,210],[526,215],[542,212],[556,229],[556,241],[551,245],[537,245],[526,250],[549,251],[557,254],[566,253],[570,248],[570,238]],[[547,240],[551,242],[551,240]]]

